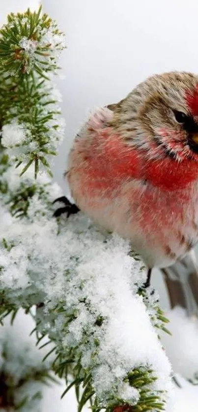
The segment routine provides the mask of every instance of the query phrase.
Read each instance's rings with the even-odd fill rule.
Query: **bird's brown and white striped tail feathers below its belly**
[[[171,308],[182,306],[189,316],[198,315],[198,265],[194,251],[174,265],[161,270]]]

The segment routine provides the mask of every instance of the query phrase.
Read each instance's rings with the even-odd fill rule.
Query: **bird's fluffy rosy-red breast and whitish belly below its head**
[[[149,159],[112,127],[99,124],[76,140],[69,166],[77,206],[130,238],[150,267],[172,263],[196,241],[195,160]]]

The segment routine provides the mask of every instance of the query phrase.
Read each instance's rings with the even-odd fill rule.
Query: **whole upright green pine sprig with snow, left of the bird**
[[[0,29],[1,144],[22,173],[34,165],[51,176],[64,136],[61,96],[55,86],[64,35],[48,15],[11,13]]]

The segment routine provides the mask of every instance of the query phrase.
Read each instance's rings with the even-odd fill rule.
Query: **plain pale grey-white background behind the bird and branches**
[[[55,179],[63,187],[66,157],[87,112],[123,98],[153,73],[198,72],[197,0],[43,0],[44,11],[66,32],[67,50],[58,82],[66,119],[65,140],[55,160]],[[37,0],[0,0],[0,24],[8,12]],[[154,282],[161,289],[159,276]],[[159,291],[166,303],[165,293]],[[191,391],[191,392],[190,392]],[[76,412],[73,397],[59,402],[61,389],[49,389],[43,412]],[[178,391],[177,391],[178,392]],[[179,391],[176,412],[198,411],[197,388]],[[197,396],[196,396],[197,397]],[[190,401],[191,399],[191,401]],[[190,403],[189,403],[190,402]]]

